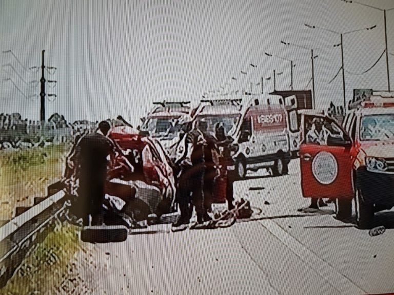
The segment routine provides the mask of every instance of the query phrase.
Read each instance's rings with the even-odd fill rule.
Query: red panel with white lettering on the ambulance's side
[[[281,132],[286,129],[286,114],[281,109],[253,110],[247,114],[256,132]]]

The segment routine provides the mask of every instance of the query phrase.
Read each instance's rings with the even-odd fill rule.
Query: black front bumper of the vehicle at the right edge
[[[356,176],[357,188],[367,202],[394,206],[394,174],[370,172],[362,167]]]

